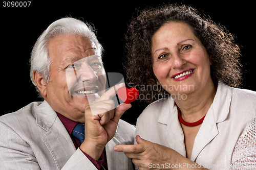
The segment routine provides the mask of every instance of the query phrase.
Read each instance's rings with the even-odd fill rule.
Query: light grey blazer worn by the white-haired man
[[[134,169],[132,160],[115,152],[117,144],[133,144],[135,127],[119,120],[115,136],[106,144],[108,168]],[[72,139],[56,112],[33,102],[0,117],[0,169],[96,169]]]

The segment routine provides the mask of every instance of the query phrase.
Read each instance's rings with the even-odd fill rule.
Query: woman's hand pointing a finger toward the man
[[[114,151],[124,152],[127,157],[133,159],[133,163],[139,169],[205,169],[200,168],[199,164],[183,157],[173,149],[164,147],[163,145],[153,143],[136,136],[138,144],[132,145],[116,145]],[[194,166],[187,166],[188,164]]]

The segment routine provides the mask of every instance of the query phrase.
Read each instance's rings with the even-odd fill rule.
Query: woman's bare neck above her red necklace
[[[216,87],[213,82],[210,82],[205,88],[186,94],[186,100],[175,100],[175,103],[180,108],[182,118],[186,122],[192,123],[207,113],[214,101],[215,94]]]

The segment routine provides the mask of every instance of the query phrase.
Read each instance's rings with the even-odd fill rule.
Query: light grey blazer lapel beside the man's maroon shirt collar
[[[36,108],[36,121],[46,131],[42,141],[50,151],[58,169],[61,169],[76,151],[70,135],[46,101]]]

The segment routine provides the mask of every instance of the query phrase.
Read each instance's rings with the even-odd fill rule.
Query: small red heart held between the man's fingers
[[[131,103],[135,101],[138,96],[139,96],[139,91],[136,88],[126,88],[126,87],[121,87],[117,91],[117,94],[119,98],[124,102],[124,103]]]

